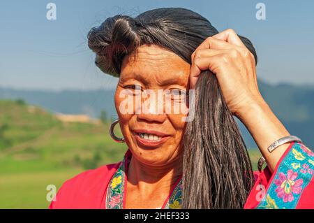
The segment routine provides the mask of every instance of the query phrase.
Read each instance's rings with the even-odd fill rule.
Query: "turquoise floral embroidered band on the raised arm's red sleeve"
[[[302,143],[294,143],[256,208],[295,208],[313,175],[314,152]]]

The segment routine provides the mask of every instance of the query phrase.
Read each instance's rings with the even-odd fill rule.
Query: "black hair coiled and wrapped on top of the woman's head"
[[[104,73],[119,77],[124,56],[142,44],[156,44],[191,63],[190,55],[209,36],[218,31],[202,15],[185,8],[157,8],[133,18],[109,17],[88,34],[88,45],[96,53],[95,64]],[[239,36],[252,52],[251,41]]]

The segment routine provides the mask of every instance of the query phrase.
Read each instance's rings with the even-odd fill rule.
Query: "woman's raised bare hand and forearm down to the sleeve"
[[[228,108],[246,125],[273,171],[289,144],[279,146],[272,153],[267,148],[290,134],[262,98],[257,87],[254,56],[232,29],[207,38],[193,52],[191,89],[200,72],[207,69],[216,74]]]

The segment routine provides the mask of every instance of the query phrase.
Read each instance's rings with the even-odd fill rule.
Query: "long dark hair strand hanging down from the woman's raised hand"
[[[184,208],[243,208],[253,186],[251,161],[210,71],[197,81],[195,117],[183,146]]]

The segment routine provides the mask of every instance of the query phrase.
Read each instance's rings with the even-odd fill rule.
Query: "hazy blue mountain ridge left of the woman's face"
[[[106,110],[109,117],[116,117],[114,90],[24,90],[0,88],[0,99],[23,99],[34,106],[40,106],[52,113],[87,114],[100,117]]]

